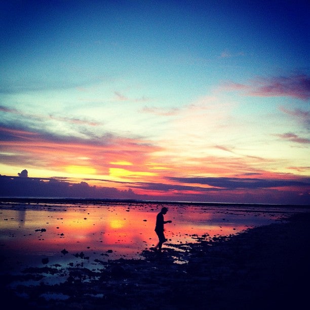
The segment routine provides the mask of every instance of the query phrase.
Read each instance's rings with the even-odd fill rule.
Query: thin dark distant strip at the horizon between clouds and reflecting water
[[[303,207],[310,208],[310,205],[292,205],[292,204],[251,204],[251,203],[223,203],[223,202],[186,202],[186,201],[153,201],[153,200],[135,200],[135,199],[102,199],[102,198],[66,198],[66,197],[0,197],[0,202],[14,203],[81,203],[81,204],[99,204],[99,203],[143,203],[143,204],[165,204],[165,205],[191,205],[191,206],[260,206],[260,207]]]

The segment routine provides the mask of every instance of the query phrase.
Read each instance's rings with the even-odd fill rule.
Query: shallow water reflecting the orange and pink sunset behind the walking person
[[[1,255],[16,265],[37,266],[81,260],[141,258],[144,249],[158,243],[154,226],[163,204],[2,204],[0,205]],[[202,207],[168,205],[164,247],[237,234],[244,229],[275,222],[284,208]],[[68,253],[61,252],[62,250]],[[80,256],[79,256],[79,255]],[[6,262],[8,263],[8,261]]]

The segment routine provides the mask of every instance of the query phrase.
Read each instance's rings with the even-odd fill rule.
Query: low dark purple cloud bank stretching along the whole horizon
[[[165,183],[127,183],[127,190],[115,187],[91,186],[87,182],[73,183],[63,178],[31,178],[27,171],[19,176],[0,175],[0,197],[82,198],[115,200],[150,200],[210,203],[309,205],[310,183],[292,180],[237,178],[168,178],[179,185]],[[218,186],[206,188],[197,184]],[[281,187],[275,188],[275,187]],[[291,190],[291,186],[295,190]],[[131,187],[131,188],[130,188]],[[133,188],[133,189],[132,189]],[[157,196],[138,195],[135,189],[157,192]],[[287,189],[284,189],[287,188]],[[298,190],[296,190],[298,188]]]

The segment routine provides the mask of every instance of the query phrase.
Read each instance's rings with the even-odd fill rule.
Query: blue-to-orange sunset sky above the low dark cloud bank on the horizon
[[[0,1],[0,174],[310,204],[309,11]]]

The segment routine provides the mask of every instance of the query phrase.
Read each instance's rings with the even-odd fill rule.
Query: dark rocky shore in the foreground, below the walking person
[[[17,309],[303,309],[310,280],[310,214],[242,234],[198,244],[144,251],[145,260],[97,261],[86,268],[43,267],[1,277],[1,303]],[[176,264],[172,257],[188,261]],[[3,257],[5,261],[5,257]],[[20,285],[16,280],[62,273],[57,285]],[[22,283],[22,282],[21,282]],[[24,297],[18,297],[16,295]],[[66,300],[46,300],[45,293]],[[46,296],[46,295],[45,295]],[[55,296],[55,295],[54,295]]]

